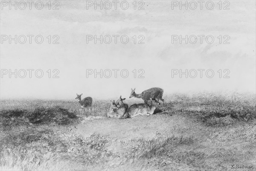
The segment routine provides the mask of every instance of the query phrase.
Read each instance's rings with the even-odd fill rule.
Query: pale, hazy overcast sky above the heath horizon
[[[83,93],[82,98],[92,96],[106,99],[120,95],[128,98],[131,88],[135,87],[136,93],[151,87],[161,87],[165,94],[221,90],[255,93],[255,1],[229,1],[229,5],[222,4],[221,10],[217,1],[212,10],[207,9],[205,4],[202,10],[200,7],[195,10],[183,7],[180,10],[179,6],[172,9],[172,1],[144,1],[144,5],[137,4],[136,8],[143,5],[144,10],[134,10],[133,1],[128,1],[127,10],[121,9],[120,3],[117,9],[112,6],[110,10],[104,7],[94,10],[94,6],[87,6],[86,1],[79,0],[59,1],[59,10],[49,10],[48,1],[44,2],[42,10],[35,9],[35,4],[32,4],[31,10],[29,7],[9,10],[9,6],[1,6],[2,39],[3,35],[12,35],[12,38],[15,35],[42,35],[44,38],[41,44],[35,42],[35,36],[31,44],[28,37],[24,44],[15,44],[15,41],[9,44],[9,40],[1,39],[1,99],[74,99],[76,93]],[[53,8],[56,4],[51,5]],[[230,10],[223,9],[227,5]],[[51,35],[51,44],[48,43],[48,35]],[[57,39],[53,35],[58,35],[56,42],[59,44],[52,44]],[[87,35],[97,35],[97,38],[110,35],[112,42],[87,43]],[[119,35],[116,44],[113,35]],[[122,35],[128,36],[127,44],[120,41]],[[136,43],[132,38],[134,35]],[[195,39],[191,37],[187,44],[185,41],[179,43],[179,40],[172,43],[175,38],[172,35],[182,35],[183,38],[196,35],[198,40],[193,44],[191,42]],[[205,35],[202,43],[198,35]],[[213,43],[207,43],[207,35],[212,35]],[[138,44],[143,37],[144,44]],[[32,78],[29,78],[29,71],[25,78],[19,75],[15,78],[14,74],[9,78],[9,73],[3,75],[9,69],[12,72],[15,69],[34,71]],[[38,69],[44,72],[42,78],[35,76]],[[53,72],[56,69],[59,78],[48,78],[49,69],[50,77],[57,73]],[[92,74],[87,78],[88,69],[93,72],[106,70],[106,76],[111,70],[112,76],[105,78],[102,75],[100,78],[98,74],[94,78]],[[119,69],[116,70],[117,78],[114,77],[115,69]],[[198,75],[196,78],[189,75],[185,78],[183,74],[180,78],[178,73],[172,78],[172,70],[180,69],[183,72],[190,70],[191,76],[196,70]],[[202,78],[198,69],[204,69]],[[205,71],[209,69],[214,71],[212,78],[207,78]],[[121,70],[128,70],[127,78],[122,78],[126,74],[123,72],[120,75]],[[211,72],[208,74],[211,76]],[[23,72],[20,71],[20,75]],[[138,78],[139,75],[144,78]]]

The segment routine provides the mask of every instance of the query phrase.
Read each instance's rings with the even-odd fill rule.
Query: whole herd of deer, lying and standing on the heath
[[[90,107],[92,104],[93,99],[91,97],[86,97],[83,100],[81,100],[81,95],[76,94],[76,99],[79,100],[79,103],[81,104],[81,108],[84,107]],[[163,89],[153,87],[148,90],[143,91],[140,94],[135,93],[134,90],[131,89],[131,96],[136,98],[141,98],[144,100],[144,103],[140,104],[132,104],[130,107],[128,107],[128,104],[125,104],[122,99],[122,96],[119,97],[119,99],[115,102],[114,100],[111,101],[111,107],[109,111],[107,112],[108,117],[115,117],[119,119],[125,119],[125,118],[133,118],[135,116],[139,115],[145,115],[150,116],[154,113],[154,110],[156,109],[156,106],[159,105],[159,100],[163,101]],[[150,104],[148,104],[148,101],[151,101]]]

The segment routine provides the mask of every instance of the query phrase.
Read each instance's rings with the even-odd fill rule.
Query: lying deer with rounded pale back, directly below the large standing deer
[[[154,113],[154,110],[157,108],[156,106],[160,103],[154,98],[154,96],[153,98],[149,97],[149,99],[151,100],[151,105],[145,103],[131,105],[127,110],[128,117],[133,118],[139,115],[152,115]]]

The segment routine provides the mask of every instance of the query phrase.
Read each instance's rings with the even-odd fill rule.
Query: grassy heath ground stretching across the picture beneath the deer
[[[109,100],[2,100],[0,170],[256,170],[255,94],[165,96],[152,116]],[[129,105],[143,102],[127,99]]]

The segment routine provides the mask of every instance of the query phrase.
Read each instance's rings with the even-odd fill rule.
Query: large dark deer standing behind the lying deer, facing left
[[[163,89],[161,89],[161,88],[153,87],[153,88],[150,88],[148,90],[144,90],[140,94],[136,94],[135,93],[135,88],[134,88],[134,90],[132,90],[132,88],[131,88],[130,98],[132,98],[132,97],[141,98],[141,99],[144,100],[145,104],[148,104],[148,101],[150,100],[150,97],[153,97],[153,96],[155,97],[155,99],[158,102],[159,102],[159,100],[164,102],[164,99],[162,98],[163,97]]]

